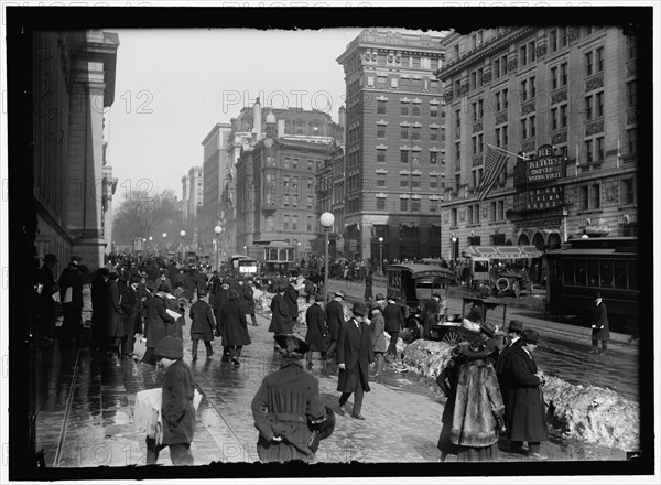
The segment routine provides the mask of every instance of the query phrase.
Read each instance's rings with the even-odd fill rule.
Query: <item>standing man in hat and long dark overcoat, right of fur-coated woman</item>
[[[521,452],[528,442],[528,455],[543,460],[540,443],[549,440],[549,427],[544,412],[542,392],[543,377],[532,358],[539,333],[527,328],[522,333],[523,345],[510,355],[511,387],[508,388],[509,409],[506,410],[507,436],[512,452]]]

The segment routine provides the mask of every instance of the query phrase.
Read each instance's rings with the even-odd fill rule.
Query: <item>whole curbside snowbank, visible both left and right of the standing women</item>
[[[418,340],[403,349],[403,367],[435,379],[447,366],[454,345]],[[399,345],[398,345],[399,351]],[[546,421],[570,438],[621,450],[638,450],[640,409],[637,402],[595,386],[544,376]]]

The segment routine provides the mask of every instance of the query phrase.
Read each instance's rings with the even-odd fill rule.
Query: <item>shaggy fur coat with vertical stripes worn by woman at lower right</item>
[[[505,405],[488,358],[469,358],[459,367],[449,439],[459,446],[484,448],[498,442],[496,417]]]

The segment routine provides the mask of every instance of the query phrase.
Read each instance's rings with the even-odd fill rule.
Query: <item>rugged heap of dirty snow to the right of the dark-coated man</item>
[[[638,450],[640,408],[617,392],[545,376],[546,419],[568,436],[622,450]]]

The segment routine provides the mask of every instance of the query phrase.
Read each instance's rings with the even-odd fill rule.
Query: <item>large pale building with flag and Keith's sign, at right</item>
[[[444,45],[444,256],[472,244],[636,235],[636,37],[500,28],[452,33]],[[478,201],[487,143],[523,157],[510,155]]]

